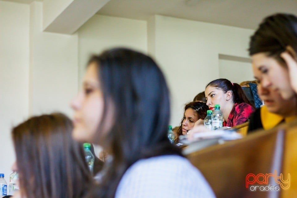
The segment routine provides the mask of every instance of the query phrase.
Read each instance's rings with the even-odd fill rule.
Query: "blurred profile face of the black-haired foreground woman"
[[[104,107],[96,63],[91,63],[87,67],[83,89],[71,102],[71,107],[74,110],[72,136],[78,141],[93,143]]]

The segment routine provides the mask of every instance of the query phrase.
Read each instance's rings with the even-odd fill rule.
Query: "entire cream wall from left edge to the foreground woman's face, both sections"
[[[0,1],[0,172],[15,161],[11,127],[61,111],[78,91],[78,36],[42,32],[42,3]]]

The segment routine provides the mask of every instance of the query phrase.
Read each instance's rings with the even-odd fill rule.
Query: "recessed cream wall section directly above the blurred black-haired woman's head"
[[[94,15],[78,30],[80,84],[90,55],[112,47],[147,52],[146,21]]]

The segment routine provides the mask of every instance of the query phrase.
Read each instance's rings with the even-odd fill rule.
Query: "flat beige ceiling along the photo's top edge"
[[[6,1],[28,4],[34,0]],[[97,14],[139,20],[157,14],[256,29],[265,16],[276,12],[297,15],[297,0],[110,0]]]

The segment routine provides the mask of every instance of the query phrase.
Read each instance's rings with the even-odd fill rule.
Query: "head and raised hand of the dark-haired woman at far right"
[[[268,16],[252,35],[249,45],[253,69],[262,73],[261,86],[278,89],[285,100],[297,93],[296,26],[295,15]]]

